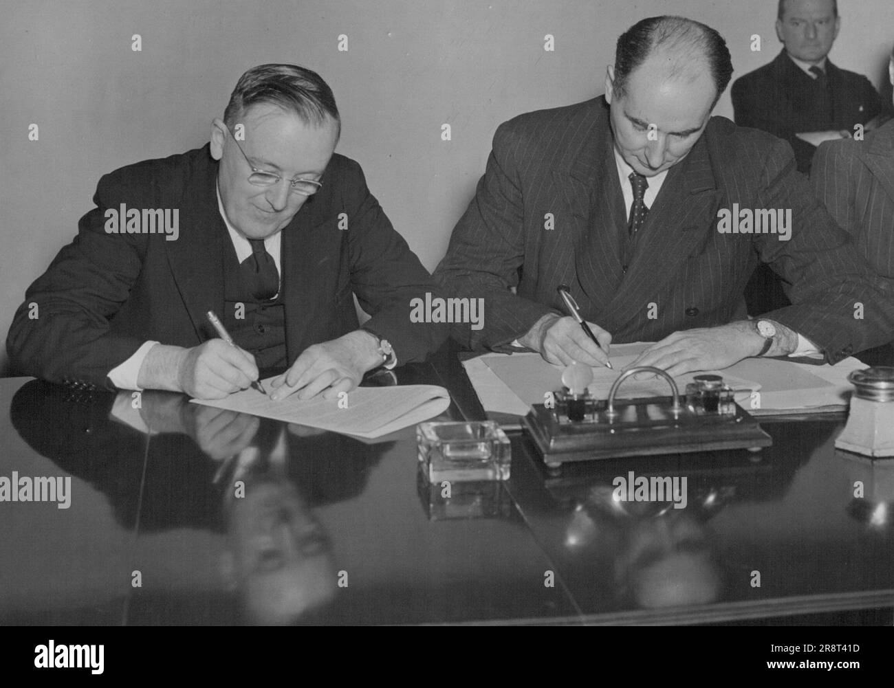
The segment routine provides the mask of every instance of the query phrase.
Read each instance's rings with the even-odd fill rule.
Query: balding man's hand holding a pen
[[[609,360],[611,334],[598,325],[587,323],[599,342],[597,347],[584,329],[570,316],[544,315],[534,323],[519,342],[538,351],[544,361],[552,365],[569,365],[577,361],[586,365],[605,365]],[[601,348],[600,348],[601,347]]]

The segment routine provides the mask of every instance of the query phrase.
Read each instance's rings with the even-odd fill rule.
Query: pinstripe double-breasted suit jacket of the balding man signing
[[[454,332],[468,347],[510,350],[540,317],[563,313],[561,282],[616,342],[729,323],[745,315],[742,290],[759,257],[791,283],[795,306],[771,317],[832,363],[894,332],[890,281],[871,273],[815,199],[789,146],[722,117],[671,167],[625,271],[608,113],[599,97],[522,114],[496,131],[485,176],[434,273],[461,296],[485,298],[484,328]],[[790,208],[791,239],[721,234],[718,210],[733,203]],[[856,301],[875,316],[855,320]]]

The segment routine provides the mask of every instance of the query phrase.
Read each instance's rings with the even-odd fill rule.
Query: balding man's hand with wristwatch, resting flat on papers
[[[768,356],[786,356],[797,347],[797,334],[773,322],[776,337]],[[681,375],[699,370],[722,370],[743,358],[757,356],[764,339],[754,324],[744,320],[720,327],[698,328],[674,332],[655,343],[627,366],[651,365],[670,375]]]

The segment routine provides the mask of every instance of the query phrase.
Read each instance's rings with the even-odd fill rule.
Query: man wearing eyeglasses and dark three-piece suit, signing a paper
[[[288,368],[273,399],[331,399],[426,357],[447,331],[411,324],[410,302],[440,292],[359,165],[333,153],[340,128],[315,72],[265,64],[242,75],[205,147],[106,174],[15,315],[13,369],[218,399]],[[171,211],[177,231],[146,231],[133,209]],[[371,315],[362,329],[353,294]]]

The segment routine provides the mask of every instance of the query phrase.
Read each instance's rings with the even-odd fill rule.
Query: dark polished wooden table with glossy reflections
[[[484,417],[452,352],[396,373]],[[68,508],[0,502],[0,625],[891,622],[894,461],[837,452],[843,417],[763,423],[757,455],[559,470],[515,432],[509,481],[444,500],[412,428],[135,405],[0,380],[0,477],[71,477]],[[612,500],[631,471],[685,476],[686,508]]]

